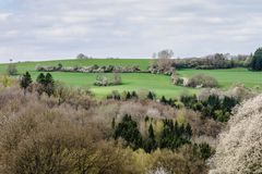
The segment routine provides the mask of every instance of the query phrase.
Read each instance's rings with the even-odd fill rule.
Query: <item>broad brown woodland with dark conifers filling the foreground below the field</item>
[[[47,74],[44,76],[38,82],[45,84]],[[205,160],[214,152],[209,136],[216,137],[222,124],[216,122],[218,119],[210,120],[213,115],[201,117],[195,111],[203,114],[203,109],[210,107],[214,108],[212,114],[218,113],[217,109],[231,110],[230,99],[224,101],[221,97],[219,107],[216,107],[215,97],[201,101],[192,97],[182,99],[188,109],[176,105],[174,109],[172,103],[180,105],[180,101],[163,97],[154,102],[158,100],[152,91],[123,92],[118,102],[93,102],[88,92],[73,91],[57,83],[51,97],[39,96],[36,90],[39,83],[31,83],[28,73],[22,78],[26,79],[25,86],[33,85],[35,90],[27,95],[13,88],[0,92],[0,114],[20,115],[19,121],[12,119],[14,122],[0,117],[4,125],[0,126],[3,173],[13,173],[13,169],[26,173],[32,166],[44,172],[66,170],[68,173],[81,173],[82,170],[87,173],[148,173],[159,169],[167,173],[206,173]],[[140,100],[141,95],[147,100]],[[119,116],[124,113],[128,114],[120,121]],[[36,161],[40,164],[35,165]],[[0,167],[0,172],[2,170]]]

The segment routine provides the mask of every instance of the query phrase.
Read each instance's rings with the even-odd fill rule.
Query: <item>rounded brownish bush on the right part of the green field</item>
[[[212,76],[204,75],[204,74],[196,74],[191,78],[189,78],[188,86],[193,88],[195,87],[213,88],[218,86],[218,82]]]

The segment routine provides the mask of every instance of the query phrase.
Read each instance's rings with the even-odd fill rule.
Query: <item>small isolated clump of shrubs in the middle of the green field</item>
[[[112,76],[98,74],[94,83],[95,86],[112,86],[112,85],[121,85],[121,84],[122,84],[122,78],[120,73],[114,73]]]

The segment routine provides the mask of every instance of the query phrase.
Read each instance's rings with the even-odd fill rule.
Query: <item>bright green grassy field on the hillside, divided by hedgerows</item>
[[[19,73],[22,74],[28,71],[35,79],[39,72],[35,71],[37,64],[40,65],[57,65],[61,63],[63,66],[85,66],[85,65],[140,65],[142,70],[146,70],[150,60],[146,59],[90,59],[90,60],[58,60],[46,62],[25,62],[17,63]],[[7,64],[0,64],[0,74],[4,74]],[[207,74],[215,77],[221,88],[227,89],[233,84],[242,83],[247,87],[262,85],[262,72],[250,72],[246,69],[229,69],[229,70],[180,70],[180,76],[190,77],[194,74]],[[166,75],[155,75],[147,73],[123,73],[122,85],[97,87],[94,86],[96,74],[92,73],[63,73],[53,72],[53,78],[69,86],[90,88],[97,97],[102,98],[110,94],[112,90],[140,90],[146,89],[157,94],[157,96],[177,97],[181,92],[198,92],[200,89],[186,88],[174,86],[170,83],[170,77]]]

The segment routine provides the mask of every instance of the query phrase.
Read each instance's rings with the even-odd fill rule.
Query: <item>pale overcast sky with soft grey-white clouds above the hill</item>
[[[254,52],[261,0],[0,0],[0,62]]]

